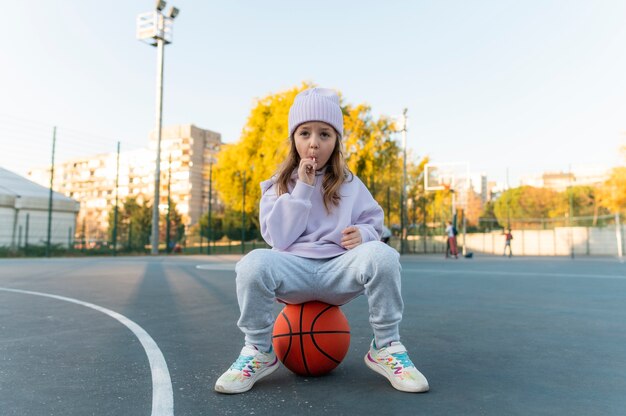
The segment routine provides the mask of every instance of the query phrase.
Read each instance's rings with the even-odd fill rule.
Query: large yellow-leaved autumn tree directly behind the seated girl
[[[226,210],[240,212],[245,195],[246,216],[257,228],[259,183],[276,173],[285,160],[289,150],[289,108],[299,92],[311,87],[312,84],[303,83],[257,100],[240,140],[223,146],[218,155],[215,187]],[[340,105],[349,169],[365,183],[384,210],[392,211],[390,221],[399,222],[402,158],[393,120],[385,116],[375,118],[370,106],[347,104],[343,97]],[[407,194],[419,192],[424,164],[424,160],[408,161]]]

